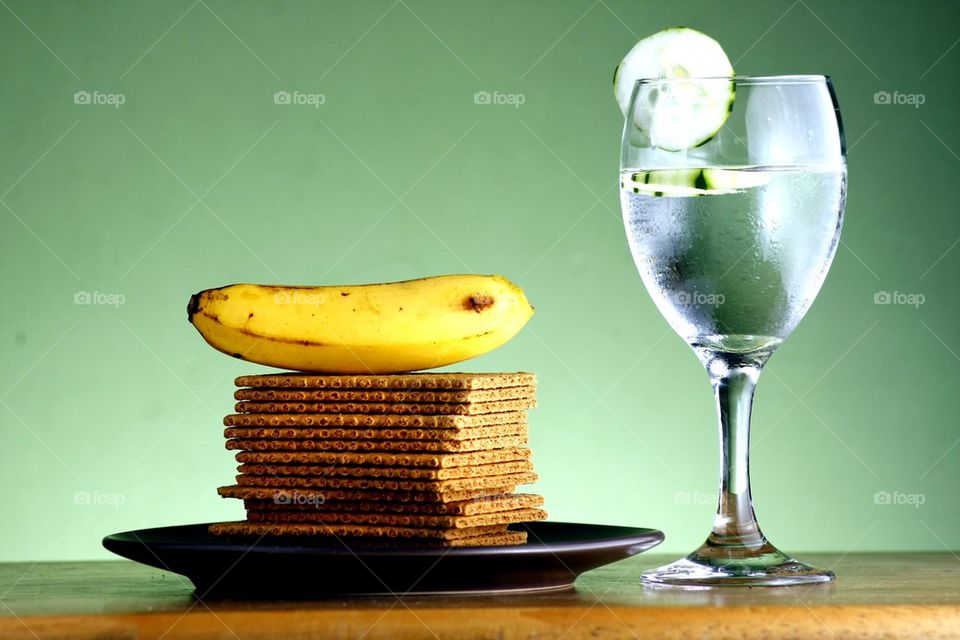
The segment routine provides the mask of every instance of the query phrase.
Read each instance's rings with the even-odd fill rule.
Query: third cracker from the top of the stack
[[[346,413],[391,415],[460,415],[524,411],[537,405],[534,398],[494,402],[410,404],[405,402],[253,402],[244,400],[234,407],[237,413]]]

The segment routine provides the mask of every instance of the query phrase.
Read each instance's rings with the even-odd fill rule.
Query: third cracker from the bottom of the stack
[[[334,513],[394,513],[447,516],[474,516],[514,509],[530,509],[543,505],[543,496],[534,493],[513,493],[481,496],[460,502],[361,502],[357,500],[326,500],[313,503],[294,502],[283,495],[278,500],[246,499],[247,511],[325,511]]]

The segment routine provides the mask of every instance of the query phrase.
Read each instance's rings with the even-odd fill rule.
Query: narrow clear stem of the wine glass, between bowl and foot
[[[767,545],[750,496],[750,411],[766,357],[710,356],[706,365],[720,420],[720,497],[707,546],[749,554]]]

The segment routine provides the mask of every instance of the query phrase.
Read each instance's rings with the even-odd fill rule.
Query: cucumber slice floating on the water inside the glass
[[[657,169],[623,174],[620,188],[633,193],[669,198],[718,196],[765,185],[762,171],[739,169]]]

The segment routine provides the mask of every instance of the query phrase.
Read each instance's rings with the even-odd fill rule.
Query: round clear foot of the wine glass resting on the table
[[[686,558],[641,577],[652,587],[781,587],[816,584],[836,579],[832,571],[798,562],[773,545],[749,550],[724,550],[704,545]]]

